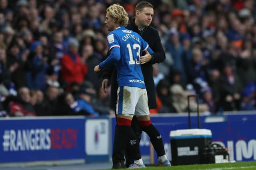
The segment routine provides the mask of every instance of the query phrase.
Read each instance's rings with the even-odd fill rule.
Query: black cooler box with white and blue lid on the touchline
[[[181,129],[170,131],[172,165],[202,164],[202,152],[212,142],[209,129]]]

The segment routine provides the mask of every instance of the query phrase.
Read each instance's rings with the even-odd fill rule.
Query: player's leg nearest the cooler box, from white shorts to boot
[[[142,130],[146,132],[150,137],[150,141],[154,149],[156,150],[158,160],[160,162],[165,162],[165,166],[170,166],[170,162],[164,150],[162,136],[150,121],[150,115],[148,111],[148,100],[147,100],[146,93],[143,93],[143,95],[138,100],[138,104],[135,109],[135,115],[137,116],[138,124],[140,125]]]

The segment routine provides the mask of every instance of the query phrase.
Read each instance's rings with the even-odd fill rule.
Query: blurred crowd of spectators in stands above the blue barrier
[[[254,0],[148,0],[166,60],[154,64],[158,108],[256,109]],[[108,51],[106,8],[139,0],[0,0],[0,117],[114,114],[94,72]],[[196,101],[191,98],[192,111]]]

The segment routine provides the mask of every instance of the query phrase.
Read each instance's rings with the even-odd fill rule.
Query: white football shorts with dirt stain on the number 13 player
[[[116,103],[117,114],[149,115],[148,95],[145,88],[118,87]]]

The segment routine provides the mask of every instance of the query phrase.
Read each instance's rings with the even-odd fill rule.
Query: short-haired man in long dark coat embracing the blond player
[[[127,25],[126,28],[139,33],[142,36],[142,38],[149,44],[150,48],[154,51],[154,54],[152,55],[150,55],[149,53],[146,53],[146,54],[142,53],[142,57],[140,57],[140,62],[142,64],[142,73],[144,76],[144,82],[145,82],[146,90],[148,94],[148,106],[149,106],[149,109],[154,109],[157,106],[156,106],[156,93],[155,93],[155,86],[154,86],[154,80],[153,80],[152,64],[163,62],[165,60],[165,52],[162,47],[158,31],[150,26],[150,23],[153,18],[153,12],[154,12],[152,4],[150,4],[149,2],[140,2],[136,5],[135,12],[136,12],[135,14],[136,17]],[[103,90],[106,89],[106,86],[108,85],[108,80],[111,78],[110,105],[115,110],[117,88],[118,88],[118,84],[116,82],[115,68],[103,70],[102,76],[103,76],[103,81],[102,81]],[[140,142],[142,129],[139,127],[138,121],[135,116],[132,119],[132,127],[138,136],[138,142]],[[116,125],[115,136],[118,133],[119,133],[118,125]],[[162,141],[162,138],[160,140]],[[154,142],[152,141],[152,139],[150,139],[150,141]],[[119,141],[114,139],[114,143],[118,143],[118,142]],[[164,150],[162,150],[162,146],[159,146],[158,150],[160,150],[161,153],[164,152]],[[129,165],[134,162],[133,160],[134,154],[140,154],[140,151],[139,150],[134,151],[129,148],[126,149],[126,167],[129,167]],[[164,155],[165,155],[165,152],[164,152]],[[120,158],[122,158],[122,155],[118,155],[116,157],[116,154],[113,153],[113,157],[112,157],[113,168],[116,168],[116,169],[125,168],[123,163],[124,161],[120,162]]]

